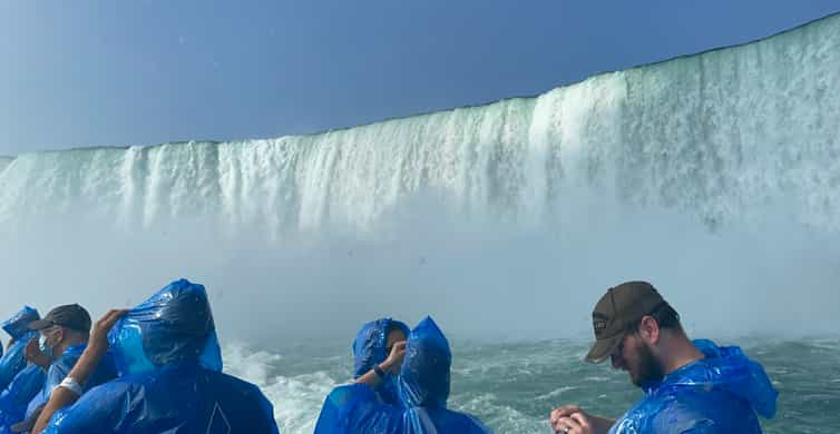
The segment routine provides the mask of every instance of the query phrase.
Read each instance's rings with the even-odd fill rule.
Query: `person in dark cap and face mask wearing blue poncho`
[[[90,315],[77,304],[58,306],[43,319],[29,324],[29,329],[37,331],[40,337],[27,344],[27,361],[48,367],[43,386],[27,405],[26,420],[12,425],[12,432],[25,433],[35,426],[52,389],[64,382],[87,347],[90,325]],[[92,387],[116,377],[110,357],[104,357],[95,367],[86,387]]]

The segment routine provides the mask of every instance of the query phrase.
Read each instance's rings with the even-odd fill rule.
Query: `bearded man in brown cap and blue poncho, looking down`
[[[611,420],[567,405],[551,412],[557,433],[761,433],[779,393],[764,368],[739,347],[690,341],[680,315],[646,282],[611,288],[593,312],[596,342],[586,359],[611,358],[645,395]]]

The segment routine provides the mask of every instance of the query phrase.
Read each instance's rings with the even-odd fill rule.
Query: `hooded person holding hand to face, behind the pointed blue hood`
[[[409,327],[391,318],[367,323],[353,341],[353,378],[373,387],[379,400],[399,404],[397,374],[406,355]]]

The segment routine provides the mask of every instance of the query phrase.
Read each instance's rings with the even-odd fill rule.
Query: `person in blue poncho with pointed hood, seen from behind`
[[[339,386],[324,401],[315,434],[490,433],[476,417],[447,408],[452,354],[431,318],[409,334],[398,378],[399,405],[368,384]]]

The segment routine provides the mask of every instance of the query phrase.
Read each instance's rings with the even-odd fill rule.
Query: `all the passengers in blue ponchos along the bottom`
[[[592,314],[585,359],[612,362],[644,391],[621,417],[577,405],[550,411],[565,434],[761,433],[778,392],[739,347],[692,341],[677,312],[646,282],[609,288]],[[133,309],[91,324],[78,304],[42,318],[25,307],[2,323],[0,434],[279,433],[273,404],[224,374],[207,293],[182,279]],[[449,410],[450,345],[427,317],[410,328],[381,318],[352,345],[353,381],[324,400],[316,434],[490,433]],[[276,405],[282,405],[282,397]]]

